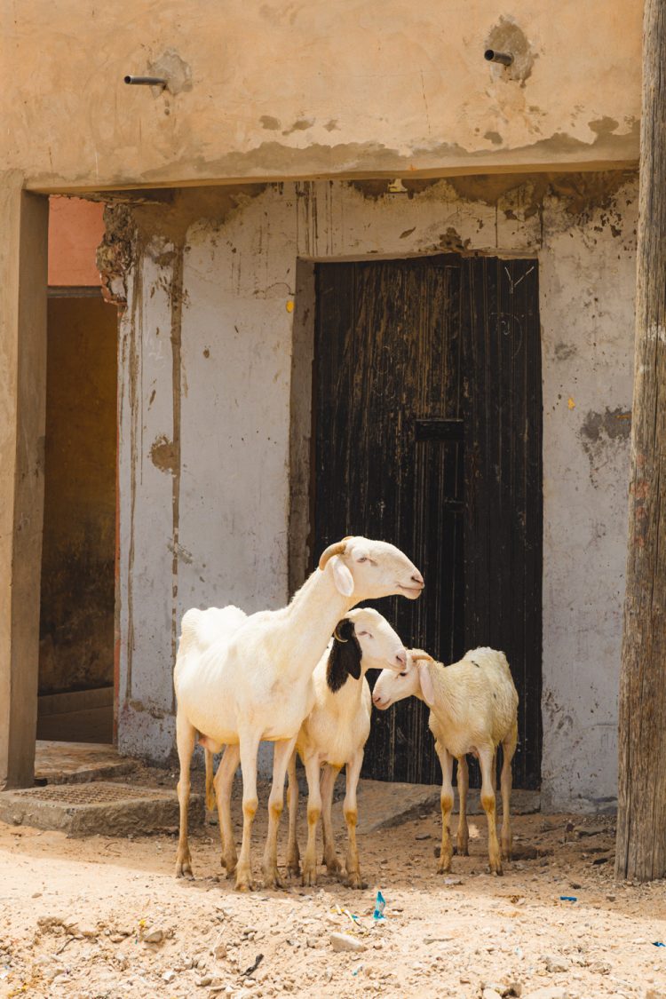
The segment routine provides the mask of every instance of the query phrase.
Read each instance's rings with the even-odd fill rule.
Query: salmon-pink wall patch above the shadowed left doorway
[[[49,198],[49,285],[98,285],[95,251],[102,242],[104,205]]]

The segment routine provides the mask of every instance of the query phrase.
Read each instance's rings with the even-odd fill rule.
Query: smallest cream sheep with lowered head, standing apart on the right
[[[511,760],[518,739],[518,694],[503,652],[475,648],[459,662],[443,666],[427,652],[411,649],[406,668],[396,674],[383,669],[372,691],[380,710],[402,697],[413,695],[430,708],[429,726],[441,764],[441,853],[438,873],[450,870],[453,849],[449,818],[453,807],[453,757],[458,761],[460,817],[457,851],[468,852],[466,753],[478,757],[481,767],[481,804],[488,822],[490,871],[502,873],[502,858],[511,859]],[[500,779],[502,793],[501,852],[495,828],[495,760],[497,745],[503,750]]]

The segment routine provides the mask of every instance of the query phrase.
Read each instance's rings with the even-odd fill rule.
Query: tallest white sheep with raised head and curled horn
[[[231,821],[226,830],[221,830],[229,833],[224,859],[228,873],[236,871],[238,890],[254,886],[251,837],[258,803],[259,743],[262,739],[276,743],[263,871],[267,886],[281,884],[277,843],[285,774],[301,723],[315,702],[313,671],[333,627],[360,600],[390,594],[415,599],[422,588],[420,572],[399,548],[385,541],[352,536],[329,545],[319,568],[287,607],[249,616],[241,616],[243,611],[238,607],[220,611],[216,608],[221,621],[219,633],[213,640],[208,635],[208,645],[200,637],[202,611],[187,611],[174,669],[180,760],[177,876],[192,877],[188,843],[190,762],[199,732],[211,751],[222,745],[232,747],[232,752],[225,753],[216,776],[223,811],[228,800],[226,788],[236,769],[234,761],[241,761],[244,818],[238,860]]]

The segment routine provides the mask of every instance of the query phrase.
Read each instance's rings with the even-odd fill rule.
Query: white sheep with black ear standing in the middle
[[[296,751],[301,756],[308,777],[308,846],[303,866],[303,884],[317,884],[317,825],[323,811],[324,862],[329,873],[341,870],[335,856],[331,808],[333,785],[346,764],[346,793],[343,811],[347,829],[345,883],[351,888],[365,888],[358,866],[356,848],[356,786],[363,761],[363,747],[370,731],[372,702],[365,679],[367,669],[384,666],[403,669],[406,651],[399,636],[385,617],[369,607],[350,610],[337,623],[333,639],[313,674],[315,706],[301,726]],[[320,789],[320,773],[326,765]],[[290,835],[288,866],[299,874],[297,812],[299,784],[296,777],[296,752],[289,764]]]

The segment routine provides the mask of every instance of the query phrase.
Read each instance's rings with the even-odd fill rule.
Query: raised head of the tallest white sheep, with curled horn
[[[394,593],[414,600],[423,588],[422,575],[399,548],[360,535],[330,544],[320,569],[331,571],[338,592],[354,603]]]

